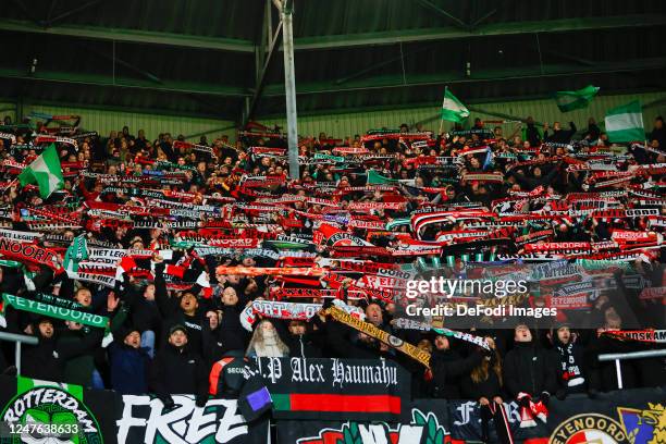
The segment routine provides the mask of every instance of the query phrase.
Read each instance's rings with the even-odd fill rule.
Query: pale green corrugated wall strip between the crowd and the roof
[[[557,109],[555,101],[552,99],[541,100],[519,100],[507,102],[490,102],[469,104],[471,119],[480,116],[483,120],[501,120],[489,113],[504,113],[515,116],[532,115],[536,121],[574,121],[582,128],[587,125],[588,118],[594,116],[597,122],[603,122],[605,111],[609,108],[627,103],[633,99],[639,99],[645,107],[643,110],[643,121],[645,130],[651,131],[654,118],[657,115],[666,115],[666,91],[633,94],[633,95],[613,95],[597,96],[588,109],[576,110],[568,113],[562,113]],[[465,102],[465,98],[460,97]],[[9,101],[0,101],[0,110],[4,110],[1,115],[11,115],[15,121],[14,103]],[[486,113],[480,112],[480,110]],[[111,130],[120,131],[124,125],[130,126],[133,134],[139,128],[146,131],[149,138],[156,138],[159,133],[171,132],[175,137],[178,134],[196,135],[207,133],[208,139],[226,134],[232,140],[235,139],[235,130],[223,127],[233,126],[233,122],[221,121],[214,119],[197,119],[197,118],[177,118],[171,115],[159,114],[143,114],[135,112],[123,112],[118,110],[98,110],[75,107],[52,107],[40,104],[24,106],[24,113],[32,111],[47,112],[51,114],[78,114],[82,115],[82,126],[86,130],[98,131],[102,135],[109,134]],[[319,135],[320,132],[325,132],[330,136],[345,137],[354,136],[355,134],[363,134],[367,130],[382,126],[397,127],[400,123],[415,124],[423,122],[427,130],[437,131],[439,121],[439,103],[433,103],[431,107],[405,108],[386,111],[366,111],[366,112],[348,112],[328,115],[301,115],[298,119],[298,134],[300,135]],[[261,123],[272,126],[278,124],[286,130],[286,121],[282,118],[261,119]],[[506,132],[511,132],[513,124],[504,125]],[[451,123],[445,123],[445,128],[451,127]],[[190,140],[198,140],[198,135]]]

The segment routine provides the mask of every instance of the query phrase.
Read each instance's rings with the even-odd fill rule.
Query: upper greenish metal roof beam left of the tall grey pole
[[[255,44],[223,37],[205,37],[153,30],[119,29],[99,26],[58,25],[44,28],[29,21],[0,18],[0,30],[48,34],[97,40],[114,40],[131,44],[164,45],[180,48],[214,49],[220,51],[255,52]]]

